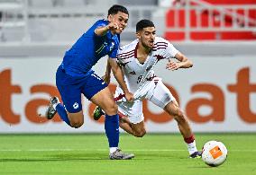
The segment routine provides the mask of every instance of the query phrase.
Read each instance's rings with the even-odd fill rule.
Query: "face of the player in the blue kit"
[[[109,15],[108,21],[115,22],[118,25],[118,29],[115,29],[114,33],[118,33],[118,34],[122,33],[122,31],[128,24],[128,18],[129,18],[129,15],[122,12]]]

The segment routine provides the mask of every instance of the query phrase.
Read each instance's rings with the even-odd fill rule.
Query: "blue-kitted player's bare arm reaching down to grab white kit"
[[[124,82],[123,79],[123,72],[120,66],[117,65],[116,61],[114,58],[109,58],[108,60],[109,65],[112,68],[112,72],[114,74],[114,78],[116,81],[119,83],[120,87],[123,90],[123,93],[125,95],[125,99],[127,101],[133,101],[133,93],[129,92],[126,83]]]

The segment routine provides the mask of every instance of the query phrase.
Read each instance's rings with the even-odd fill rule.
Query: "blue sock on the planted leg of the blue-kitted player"
[[[119,144],[119,117],[105,115],[105,135],[108,139],[109,147],[118,147]]]

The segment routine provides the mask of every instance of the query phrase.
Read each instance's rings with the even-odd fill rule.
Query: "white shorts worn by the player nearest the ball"
[[[114,97],[118,97],[123,94],[121,88],[117,88]],[[137,124],[143,121],[144,116],[142,113],[142,100],[147,99],[159,106],[161,109],[170,102],[175,100],[169,89],[162,83],[161,79],[157,78],[148,83],[146,87],[134,92],[134,101],[128,102],[123,97],[121,100],[116,101],[118,110],[123,115],[127,116],[133,124]]]

